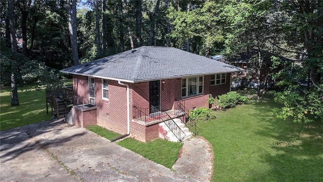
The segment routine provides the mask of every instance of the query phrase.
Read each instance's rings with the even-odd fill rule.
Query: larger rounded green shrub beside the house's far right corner
[[[248,101],[246,96],[240,95],[238,92],[228,92],[218,96],[216,103],[223,109],[234,107],[238,104],[244,104]]]

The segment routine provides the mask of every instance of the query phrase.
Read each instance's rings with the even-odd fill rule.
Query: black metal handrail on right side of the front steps
[[[175,114],[183,112],[184,115],[180,117],[185,126],[193,133],[194,136],[198,134],[200,128],[196,125],[196,122],[189,117],[189,110],[182,104],[181,101],[175,102]]]

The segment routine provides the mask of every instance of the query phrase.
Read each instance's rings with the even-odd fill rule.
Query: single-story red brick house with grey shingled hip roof
[[[174,125],[176,117],[209,106],[209,94],[229,92],[236,71],[239,68],[211,58],[155,46],[62,70],[73,75],[75,125],[98,125],[144,142],[168,139],[163,123],[176,128],[181,125]]]

